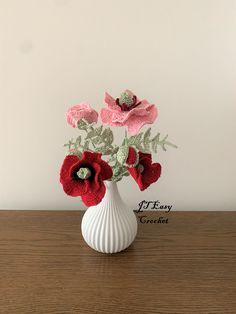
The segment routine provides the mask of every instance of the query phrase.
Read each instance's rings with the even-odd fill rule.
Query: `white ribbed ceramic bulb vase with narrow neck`
[[[81,223],[85,242],[102,253],[117,253],[126,249],[137,234],[137,219],[118,191],[117,183],[106,181],[102,201],[89,207]]]

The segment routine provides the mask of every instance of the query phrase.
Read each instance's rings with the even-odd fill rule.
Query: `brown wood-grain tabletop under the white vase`
[[[82,215],[0,211],[1,314],[236,313],[236,212],[146,213],[168,223],[114,255],[84,243]]]

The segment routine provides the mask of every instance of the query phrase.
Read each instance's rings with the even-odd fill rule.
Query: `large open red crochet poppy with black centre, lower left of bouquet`
[[[66,194],[81,196],[86,206],[97,205],[104,197],[104,180],[112,177],[112,169],[101,159],[102,154],[84,152],[82,158],[69,155],[60,171],[60,182]]]

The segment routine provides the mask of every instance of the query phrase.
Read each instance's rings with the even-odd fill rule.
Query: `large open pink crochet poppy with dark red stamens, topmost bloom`
[[[157,108],[147,100],[139,100],[131,91],[126,90],[120,98],[114,99],[105,93],[108,108],[101,110],[103,124],[127,126],[128,132],[135,135],[145,124],[153,123],[157,118]]]

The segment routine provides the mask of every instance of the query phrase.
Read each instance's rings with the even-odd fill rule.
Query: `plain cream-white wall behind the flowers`
[[[235,83],[236,1],[0,0],[0,208],[83,208],[58,183],[78,133],[65,111],[129,88],[179,149],[156,156],[163,176],[147,191],[119,184],[124,199],[236,209]]]

